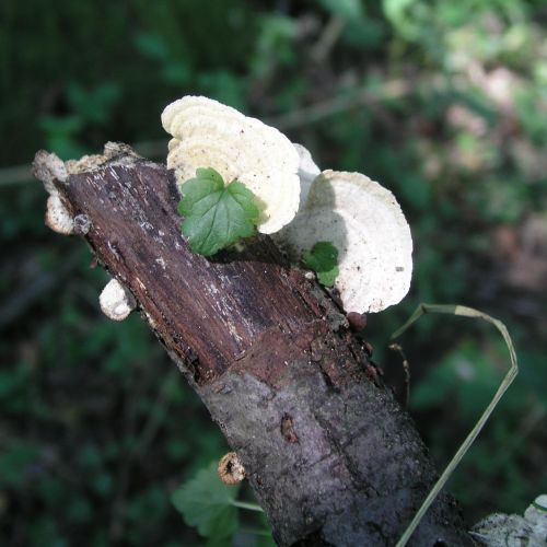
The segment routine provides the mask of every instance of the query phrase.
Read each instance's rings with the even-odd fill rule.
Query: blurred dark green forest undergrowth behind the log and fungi
[[[107,140],[164,158],[162,108],[205,94],[391,188],[416,271],[400,305],[369,317],[386,380],[403,393],[384,348],[417,303],[499,316],[522,371],[451,488],[470,522],[547,490],[545,2],[3,0],[0,22],[3,167]],[[100,314],[106,276],[44,226],[44,190],[20,178],[0,170],[0,544],[203,545],[170,496],[223,454],[220,432],[139,317]],[[401,344],[441,466],[505,350],[444,317]]]

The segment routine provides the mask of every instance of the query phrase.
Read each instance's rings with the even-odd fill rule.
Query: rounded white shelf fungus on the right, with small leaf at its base
[[[360,173],[324,171],[296,218],[276,236],[294,260],[319,241],[339,252],[335,287],[347,312],[380,312],[408,292],[410,229],[393,194]]]

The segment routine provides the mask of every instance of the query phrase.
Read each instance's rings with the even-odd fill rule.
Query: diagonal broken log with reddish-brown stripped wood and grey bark
[[[395,545],[435,472],[339,309],[267,237],[193,254],[173,174],[109,155],[56,182],[61,199],[237,452],[276,540]],[[411,544],[472,545],[449,496]]]

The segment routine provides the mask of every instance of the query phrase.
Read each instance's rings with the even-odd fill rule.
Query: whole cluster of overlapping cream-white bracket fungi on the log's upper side
[[[321,173],[304,147],[211,98],[171,103],[162,125],[173,136],[167,167],[179,186],[212,167],[254,193],[263,207],[258,231],[274,234],[292,260],[318,242],[336,247],[335,288],[347,312],[380,312],[408,292],[412,238],[389,190],[360,173]]]

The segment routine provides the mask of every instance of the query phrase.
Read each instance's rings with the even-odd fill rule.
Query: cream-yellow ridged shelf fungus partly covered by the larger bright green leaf
[[[173,136],[167,167],[175,170],[179,184],[194,178],[198,167],[212,167],[226,183],[240,181],[260,200],[259,232],[277,232],[294,218],[300,200],[299,153],[283,133],[200,96],[166,106],[162,124]]]

